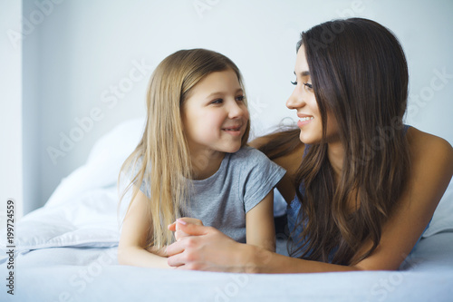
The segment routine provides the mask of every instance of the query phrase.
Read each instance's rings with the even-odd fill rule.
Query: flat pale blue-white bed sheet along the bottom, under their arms
[[[451,301],[453,234],[422,239],[404,270],[249,275],[119,266],[116,248],[43,248],[18,256],[2,301]],[[5,268],[1,266],[2,271]]]

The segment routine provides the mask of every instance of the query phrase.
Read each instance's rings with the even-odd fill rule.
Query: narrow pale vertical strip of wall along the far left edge
[[[13,45],[9,39],[21,14],[20,1],[7,1],[0,8],[0,229],[6,227],[8,200],[14,202],[16,218],[22,213],[22,43],[19,39]]]

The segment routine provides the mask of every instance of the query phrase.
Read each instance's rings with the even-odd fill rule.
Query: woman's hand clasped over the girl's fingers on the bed
[[[187,236],[169,245],[168,264],[180,269],[253,272],[257,253],[255,246],[237,243],[221,231],[177,220],[176,228]],[[256,250],[255,250],[256,249]]]

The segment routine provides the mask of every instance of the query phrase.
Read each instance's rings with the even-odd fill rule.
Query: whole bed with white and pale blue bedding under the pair
[[[0,232],[1,301],[453,300],[451,182],[429,229],[398,271],[249,275],[118,265],[124,206],[117,210],[116,180],[142,127],[143,119],[135,119],[104,135],[45,206],[15,224],[14,258],[6,230]],[[275,211],[281,202],[276,200]],[[278,241],[284,253],[284,239]],[[11,272],[14,295],[8,293]]]

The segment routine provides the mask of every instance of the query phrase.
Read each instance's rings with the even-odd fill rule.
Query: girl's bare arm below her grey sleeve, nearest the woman
[[[274,190],[246,213],[246,242],[275,251]]]

